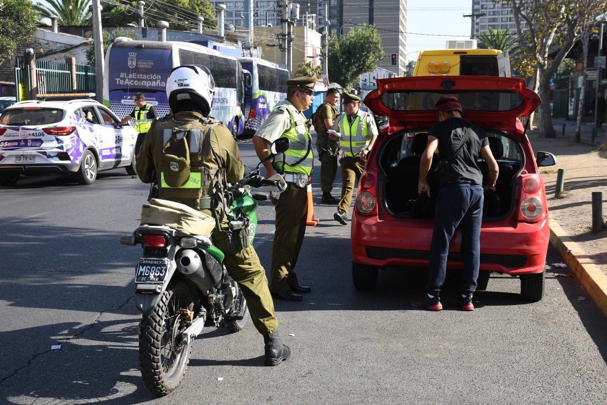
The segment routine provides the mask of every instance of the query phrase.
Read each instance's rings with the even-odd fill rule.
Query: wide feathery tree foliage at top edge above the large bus
[[[215,11],[208,0],[169,0],[163,2],[149,2],[144,7],[144,20],[146,26],[155,27],[156,21],[166,21],[169,29],[188,31],[198,27],[198,16],[205,21],[205,29],[216,29]],[[108,27],[126,26],[140,20],[137,0],[123,1],[121,4],[103,4],[101,10],[101,23]]]

